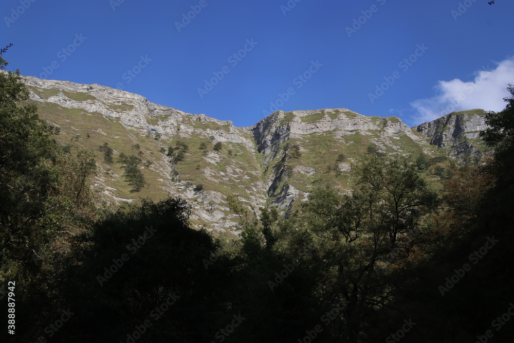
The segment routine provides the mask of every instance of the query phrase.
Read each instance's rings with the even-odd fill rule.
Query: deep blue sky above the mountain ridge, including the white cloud
[[[339,107],[413,126],[503,109],[514,2],[487,2],[4,0],[0,45],[14,44],[4,58],[22,75],[122,88],[239,127]]]

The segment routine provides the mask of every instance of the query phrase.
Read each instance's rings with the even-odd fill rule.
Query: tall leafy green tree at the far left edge
[[[10,46],[0,50],[0,70],[5,70],[7,62],[2,54]],[[50,138],[50,128],[36,114],[36,105],[23,103],[28,98],[19,70],[0,73],[0,228],[3,234],[0,243],[3,244],[8,244],[7,237],[11,234],[21,233],[44,214],[44,200],[52,187],[51,161],[60,150]]]

